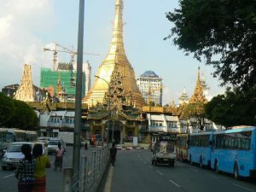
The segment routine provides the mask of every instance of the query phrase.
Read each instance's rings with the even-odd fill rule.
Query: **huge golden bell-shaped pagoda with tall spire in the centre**
[[[117,68],[122,76],[125,95],[131,94],[131,102],[136,108],[142,108],[142,106],[145,105],[143,96],[137,87],[134,70],[125,54],[122,16],[123,1],[116,0],[113,38],[110,44],[110,50],[106,58],[102,61],[102,65],[97,70],[96,76],[98,78],[95,79],[92,88],[83,99],[83,102],[87,103],[89,106],[103,102],[105,93],[109,89],[108,86],[110,86],[111,75]]]

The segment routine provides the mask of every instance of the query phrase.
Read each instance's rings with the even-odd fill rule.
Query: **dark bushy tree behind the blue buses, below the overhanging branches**
[[[207,103],[205,114],[207,119],[224,125],[256,125],[256,89],[247,92],[240,90],[227,91]]]

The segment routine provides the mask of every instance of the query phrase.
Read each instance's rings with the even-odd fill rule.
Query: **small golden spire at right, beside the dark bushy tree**
[[[197,73],[197,82],[195,85],[195,90],[193,96],[189,99],[189,103],[204,103],[207,102],[206,97],[204,96],[203,86],[201,84],[201,77],[200,77],[200,67],[198,67]]]

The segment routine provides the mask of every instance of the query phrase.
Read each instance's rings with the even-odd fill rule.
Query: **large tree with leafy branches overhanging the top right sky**
[[[222,85],[248,90],[256,84],[256,1],[179,0],[166,13],[179,49],[215,67]]]

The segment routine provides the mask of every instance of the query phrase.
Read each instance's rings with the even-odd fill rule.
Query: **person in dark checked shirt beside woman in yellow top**
[[[35,181],[34,169],[35,160],[32,158],[32,147],[30,144],[23,144],[21,152],[24,154],[24,159],[20,160],[15,177],[18,179],[19,192],[32,192],[33,183]]]

